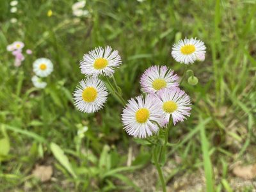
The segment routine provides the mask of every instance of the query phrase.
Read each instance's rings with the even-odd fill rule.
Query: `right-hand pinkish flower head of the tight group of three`
[[[163,125],[168,124],[170,115],[172,115],[174,125],[177,122],[183,122],[186,116],[190,115],[190,98],[179,88],[161,90],[158,96],[161,100],[161,108],[164,111]]]

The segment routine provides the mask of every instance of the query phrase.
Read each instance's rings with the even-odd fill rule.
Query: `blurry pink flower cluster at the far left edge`
[[[22,64],[22,61],[25,60],[24,54],[22,54],[22,49],[24,47],[23,42],[13,42],[10,45],[7,45],[6,49],[7,51],[12,52],[13,56],[15,57],[14,66],[19,67]],[[30,49],[26,50],[27,54],[32,54],[32,51]]]

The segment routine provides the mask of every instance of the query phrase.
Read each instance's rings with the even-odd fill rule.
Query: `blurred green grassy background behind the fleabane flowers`
[[[185,37],[202,40],[207,54],[189,65],[199,83],[182,83],[193,109],[170,131],[168,191],[256,191],[256,1],[74,3],[0,1],[0,191],[161,191],[150,147],[122,129],[115,98],[88,115],[72,92],[84,78],[79,60],[99,45],[120,52],[125,100],[140,94],[152,65],[182,76],[170,52]],[[24,43],[19,67],[6,50],[15,41]],[[54,71],[39,89],[31,78],[42,57]]]

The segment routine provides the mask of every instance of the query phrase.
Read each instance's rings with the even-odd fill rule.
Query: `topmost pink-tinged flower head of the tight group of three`
[[[159,92],[164,88],[179,86],[179,77],[166,66],[147,68],[140,79],[141,90],[145,93]]]

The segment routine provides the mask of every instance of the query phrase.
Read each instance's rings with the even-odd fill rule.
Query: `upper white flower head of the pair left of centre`
[[[86,74],[86,76],[112,76],[115,68],[121,64],[118,51],[112,51],[112,48],[107,46],[105,48],[97,47],[88,54],[84,54],[83,60],[80,61],[80,68],[82,74]]]

